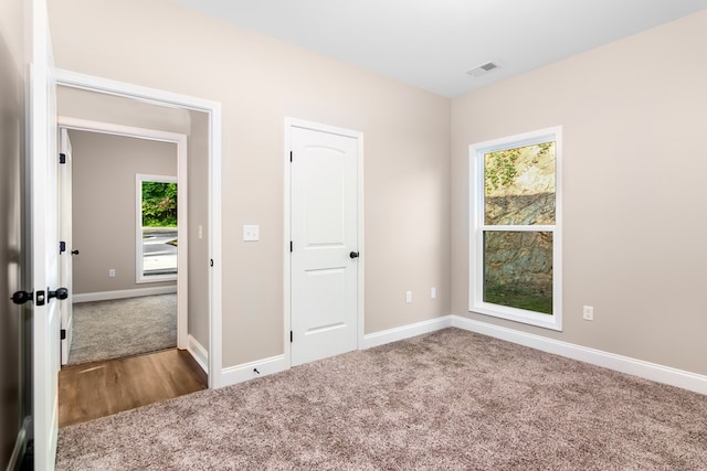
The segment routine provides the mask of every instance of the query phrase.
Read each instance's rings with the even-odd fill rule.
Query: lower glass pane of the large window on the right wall
[[[484,301],[552,314],[552,233],[484,233]]]

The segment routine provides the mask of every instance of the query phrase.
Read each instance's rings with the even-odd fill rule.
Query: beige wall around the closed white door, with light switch
[[[223,106],[224,367],[283,353],[285,116],[365,133],[366,332],[450,313],[449,100],[166,0],[49,8],[59,67]]]

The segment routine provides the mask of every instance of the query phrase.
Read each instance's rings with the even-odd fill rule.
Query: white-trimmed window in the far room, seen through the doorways
[[[177,279],[177,179],[137,174],[136,282]]]

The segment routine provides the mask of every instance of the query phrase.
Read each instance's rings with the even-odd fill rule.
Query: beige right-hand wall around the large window
[[[454,313],[707,374],[706,46],[701,12],[453,101]],[[555,125],[564,330],[467,313],[468,144]]]

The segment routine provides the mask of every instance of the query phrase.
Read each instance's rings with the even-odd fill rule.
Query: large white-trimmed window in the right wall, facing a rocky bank
[[[562,330],[561,128],[469,159],[469,311]]]

